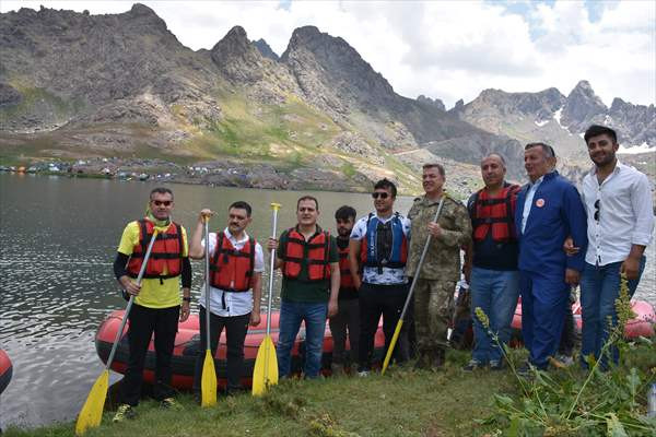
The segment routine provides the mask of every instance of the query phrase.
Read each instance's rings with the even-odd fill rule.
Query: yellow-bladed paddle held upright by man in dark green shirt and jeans
[[[279,203],[271,203],[273,210],[272,235],[276,238],[276,228],[278,226]],[[276,249],[271,249],[271,265],[269,270],[269,304],[267,306],[267,334],[262,340],[255,358],[255,368],[253,369],[253,395],[262,395],[269,386],[278,383],[278,358],[276,357],[276,346],[271,340],[271,300],[273,296],[273,268],[276,267]]]

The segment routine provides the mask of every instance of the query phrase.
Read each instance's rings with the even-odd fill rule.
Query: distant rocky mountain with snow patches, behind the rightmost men
[[[656,150],[654,105],[632,105],[616,98],[610,108],[595,94],[587,81],[581,81],[567,96],[557,88],[538,93],[507,93],[484,90],[467,105],[449,113],[461,120],[495,134],[505,134],[522,143],[546,141],[558,154],[587,165],[582,137],[593,123],[618,131],[622,151]]]

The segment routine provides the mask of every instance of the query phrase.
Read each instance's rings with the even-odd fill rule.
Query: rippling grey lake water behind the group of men
[[[109,311],[125,307],[112,271],[120,234],[128,221],[143,215],[154,186],[0,174],[0,347],[14,366],[13,379],[0,399],[2,427],[75,418],[104,367],[95,352],[95,331]],[[254,208],[249,232],[259,239],[271,232],[269,204],[283,205],[280,232],[295,223],[301,196],[186,185],[169,188],[175,193],[174,218],[189,233],[201,208],[220,211],[211,227],[223,228],[227,205],[245,200]],[[354,206],[359,215],[372,208],[367,194],[307,193],[318,198],[319,223],[331,232],[332,214],[342,204]],[[411,203],[411,198],[399,198],[397,209],[407,213]],[[636,298],[656,304],[654,246],[647,251]],[[198,297],[202,268],[194,265],[192,293]],[[113,381],[119,378],[113,374]]]

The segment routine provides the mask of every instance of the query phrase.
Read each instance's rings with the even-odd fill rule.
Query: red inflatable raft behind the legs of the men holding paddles
[[[116,310],[112,312],[98,328],[96,333],[96,351],[103,363],[107,363],[109,352],[114,339],[116,338],[116,331],[120,327],[120,321],[124,316],[124,310]],[[271,314],[271,338],[273,343],[278,343],[278,318],[279,314]],[[175,338],[175,346],[173,350],[173,381],[172,386],[178,389],[190,389],[194,382],[194,366],[196,364],[196,356],[200,347],[200,330],[198,326],[198,315],[189,316],[187,321],[178,324],[178,333]],[[128,339],[126,333],[128,332],[128,323],[121,334],[121,339],[116,351],[114,363],[112,363],[112,369],[124,374],[128,363]],[[244,343],[244,370],[242,373],[242,383],[249,387],[251,385],[253,368],[255,366],[255,357],[257,356],[257,350],[265,336],[267,329],[267,316],[262,315],[260,323],[257,327],[249,327],[246,341]],[[301,329],[296,342],[292,350],[292,371],[298,373],[303,367],[303,355],[304,355],[304,339],[305,330]],[[348,346],[348,343],[347,343]],[[375,338],[375,350],[374,361],[380,362],[383,356],[383,350],[385,346],[385,336],[383,330],[378,328]],[[216,349],[216,355],[214,356],[214,367],[216,369],[218,385],[220,387],[225,386],[226,377],[226,361],[225,361],[225,330],[221,333],[219,341],[219,347]],[[332,335],[326,322],[326,332],[324,335],[324,357],[323,368],[327,370],[330,368],[330,362],[332,359]],[[153,342],[148,349],[145,356],[145,368],[143,371],[143,379],[145,382],[153,383],[155,375],[155,352]]]

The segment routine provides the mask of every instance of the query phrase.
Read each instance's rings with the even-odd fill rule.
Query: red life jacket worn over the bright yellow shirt
[[[137,277],[143,263],[143,257],[151,241],[155,225],[147,218],[139,222],[139,243],[132,248],[128,261],[127,272],[131,277]],[[166,231],[157,233],[151,250],[143,277],[166,279],[178,276],[183,270],[183,228],[177,223],[171,222]],[[166,274],[164,274],[166,271]]]

